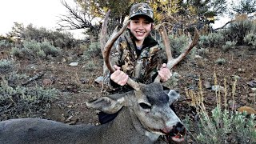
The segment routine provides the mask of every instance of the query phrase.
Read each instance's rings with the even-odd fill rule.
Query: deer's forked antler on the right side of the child
[[[162,40],[163,43],[166,47],[166,55],[167,55],[167,68],[168,69],[172,69],[175,65],[178,64],[178,62],[181,62],[183,58],[185,58],[186,54],[190,53],[190,50],[192,50],[192,48],[198,43],[199,40],[199,33],[197,28],[194,29],[194,39],[192,42],[190,42],[190,44],[186,47],[186,49],[183,50],[182,54],[180,54],[178,56],[178,58],[173,58],[171,51],[170,51],[170,40],[168,38],[167,32],[166,32],[166,28],[164,26],[162,26],[162,30],[161,30],[161,34],[162,34]],[[158,75],[157,78],[154,79],[154,82],[160,82],[160,76]]]

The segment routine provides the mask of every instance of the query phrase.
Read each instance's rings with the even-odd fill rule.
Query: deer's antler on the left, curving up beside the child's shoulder
[[[106,17],[104,18],[104,23],[102,24],[102,31],[104,32],[104,30],[106,30],[106,26],[107,26],[107,18],[109,16],[109,12],[106,14]],[[110,36],[110,39],[108,40],[108,42],[106,42],[106,45],[104,47],[104,51],[103,51],[103,58],[104,58],[104,62],[106,63],[106,67],[110,70],[111,73],[114,72],[114,68],[113,66],[111,65],[110,63],[110,50],[111,50],[111,47],[114,45],[114,42],[118,39],[118,37],[126,30],[126,27],[128,26],[130,20],[128,20],[123,26],[122,28],[112,34]],[[114,31],[116,31],[118,28],[118,26],[115,28]],[[106,34],[102,34],[101,32],[101,39],[104,40],[106,39]],[[102,42],[101,42],[101,46],[102,46]],[[127,84],[129,86],[131,86],[132,88],[134,88],[134,90],[139,90],[139,84],[138,82],[135,82],[133,79],[131,78],[128,78],[127,80]]]

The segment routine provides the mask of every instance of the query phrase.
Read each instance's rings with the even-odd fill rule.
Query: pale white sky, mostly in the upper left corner
[[[72,6],[73,0],[65,0]],[[0,2],[0,35],[11,31],[14,22],[24,26],[32,23],[36,27],[49,30],[57,28],[58,16],[67,14],[67,10],[60,0],[2,0]],[[214,27],[223,26],[228,19],[222,18],[215,22]],[[70,31],[75,38],[82,38],[82,30]]]

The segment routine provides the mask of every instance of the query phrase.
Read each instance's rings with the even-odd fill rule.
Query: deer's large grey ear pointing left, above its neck
[[[96,98],[90,102],[86,102],[88,107],[101,110],[107,114],[118,112],[123,106],[125,98],[112,99],[109,97]]]

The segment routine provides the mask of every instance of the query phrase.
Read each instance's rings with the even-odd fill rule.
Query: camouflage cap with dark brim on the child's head
[[[153,9],[147,3],[136,3],[130,8],[129,19],[137,15],[146,15],[150,22],[154,22]]]

